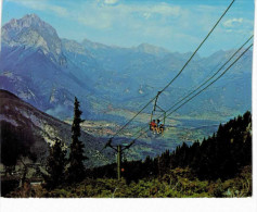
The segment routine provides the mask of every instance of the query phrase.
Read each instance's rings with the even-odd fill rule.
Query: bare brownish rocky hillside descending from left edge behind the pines
[[[41,157],[48,151],[47,144],[53,144],[55,138],[63,140],[66,147],[70,144],[70,125],[37,110],[7,90],[0,90],[0,124],[2,122],[12,124],[14,128],[22,126],[24,132],[30,132],[35,139],[33,149]],[[86,162],[88,166],[108,162],[108,159],[98,151],[103,147],[100,139],[81,132],[80,140],[86,146],[85,152],[89,158]]]

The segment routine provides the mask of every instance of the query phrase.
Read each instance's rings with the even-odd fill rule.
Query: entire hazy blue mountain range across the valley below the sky
[[[121,48],[62,39],[36,14],[11,20],[1,28],[0,88],[56,117],[72,116],[74,96],[83,115],[125,122],[115,109],[136,112],[169,83],[192,54],[170,52],[149,43]],[[178,79],[159,97],[168,109],[211,75],[235,50],[210,57],[196,54]],[[228,120],[250,110],[252,51],[213,87],[175,115]],[[147,108],[144,112],[150,113]]]

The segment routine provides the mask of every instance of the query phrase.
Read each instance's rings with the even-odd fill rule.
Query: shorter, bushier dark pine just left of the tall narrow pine
[[[47,160],[48,175],[43,175],[47,188],[53,189],[64,183],[64,172],[67,162],[65,157],[64,144],[56,138],[55,144],[50,147],[50,154]]]

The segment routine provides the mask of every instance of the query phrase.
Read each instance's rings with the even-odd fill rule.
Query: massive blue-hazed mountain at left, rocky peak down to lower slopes
[[[79,90],[85,108],[90,107],[85,96],[93,86],[86,73],[64,55],[62,40],[52,26],[35,14],[25,15],[2,27],[1,42],[1,88],[40,110],[62,105],[65,113]]]

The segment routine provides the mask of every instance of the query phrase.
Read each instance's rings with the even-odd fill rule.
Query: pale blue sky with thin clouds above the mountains
[[[37,14],[61,38],[119,47],[151,43],[171,52],[192,52],[231,0],[3,0],[2,25]],[[237,48],[254,28],[254,0],[235,0],[198,52]]]

